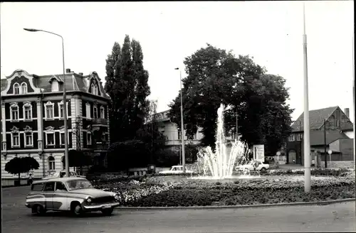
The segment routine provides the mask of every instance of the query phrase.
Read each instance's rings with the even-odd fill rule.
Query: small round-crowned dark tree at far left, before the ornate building
[[[39,164],[35,158],[30,156],[26,157],[14,157],[11,161],[5,164],[5,170],[11,174],[27,173],[29,170],[36,170],[39,168]]]

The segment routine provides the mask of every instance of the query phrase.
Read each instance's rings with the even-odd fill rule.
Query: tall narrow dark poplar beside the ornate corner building
[[[114,44],[106,60],[105,91],[111,98],[111,139],[132,140],[147,116],[148,72],[143,67],[140,42],[125,36],[122,48]]]

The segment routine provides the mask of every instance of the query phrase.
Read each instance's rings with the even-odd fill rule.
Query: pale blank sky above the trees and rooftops
[[[353,1],[305,1],[309,109],[352,107]],[[179,91],[184,58],[206,43],[251,55],[290,87],[292,119],[303,113],[303,1],[1,3],[1,78],[16,69],[30,74],[63,72],[61,38],[30,33],[36,28],[64,38],[65,66],[98,72],[125,35],[139,40],[157,111]],[[183,77],[186,74],[183,72]]]

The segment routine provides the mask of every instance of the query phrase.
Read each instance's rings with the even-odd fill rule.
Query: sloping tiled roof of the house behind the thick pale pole
[[[320,129],[324,124],[324,119],[328,119],[333,112],[338,108],[327,107],[324,109],[315,109],[309,111],[309,120],[310,120],[310,130]],[[300,114],[298,119],[292,124],[292,131],[303,131],[304,127],[304,112]]]

